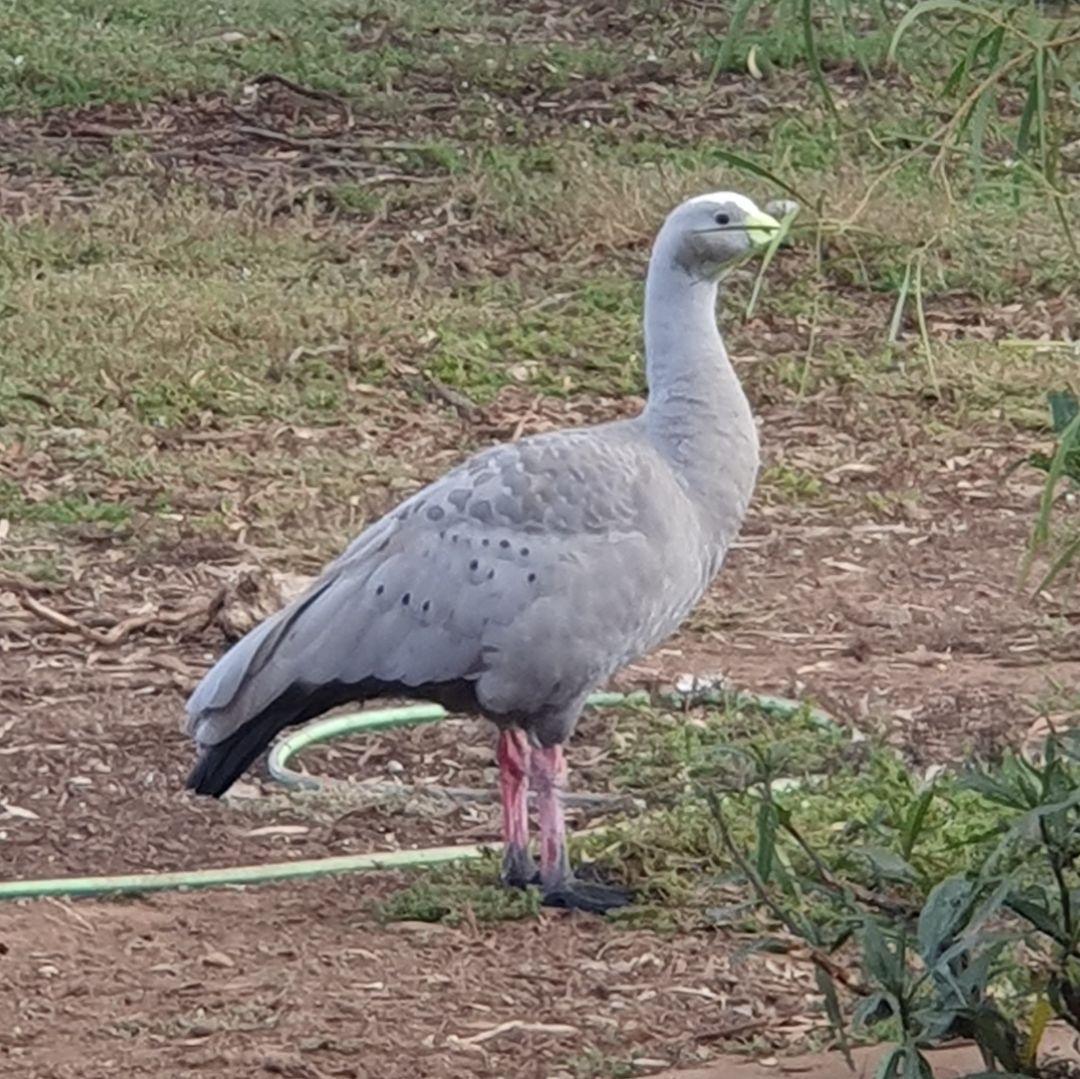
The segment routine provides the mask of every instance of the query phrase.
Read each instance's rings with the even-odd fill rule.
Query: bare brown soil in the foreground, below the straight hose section
[[[662,1067],[724,1027],[785,1029],[808,987],[766,959],[747,977],[701,940],[585,918],[377,929],[361,913],[370,887],[2,908],[0,1068],[545,1077],[586,1047]]]

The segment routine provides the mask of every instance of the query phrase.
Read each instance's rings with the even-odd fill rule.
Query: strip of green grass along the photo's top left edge
[[[654,4],[627,6],[643,26],[673,23],[650,18]],[[141,103],[268,71],[392,111],[388,98],[409,94],[418,72],[504,96],[558,92],[633,63],[631,43],[589,40],[588,27],[580,42],[515,40],[530,23],[539,28],[528,12],[476,0],[197,0],[183,13],[170,0],[120,0],[104,17],[85,0],[13,0],[0,13],[0,111]]]

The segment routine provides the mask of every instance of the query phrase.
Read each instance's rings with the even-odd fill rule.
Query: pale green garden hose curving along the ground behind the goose
[[[806,709],[798,701],[757,693],[731,693],[718,689],[681,693],[675,690],[661,693],[660,699],[675,707],[691,704],[720,704],[734,707],[755,707],[777,718],[789,718]],[[589,698],[590,707],[649,704],[652,698],[645,691],[633,693],[603,692]],[[823,730],[836,732],[840,728],[825,713],[807,709],[808,721]],[[346,734],[375,733],[421,724],[436,723],[447,715],[437,704],[419,704],[409,707],[380,709],[332,716],[301,727],[282,739],[270,754],[269,767],[273,779],[286,787],[318,788],[323,781],[305,775],[287,767],[288,761],[302,750]],[[397,791],[406,787],[395,787]],[[423,790],[422,787],[420,790]],[[610,795],[568,796],[568,802],[608,805],[622,808],[626,799]],[[485,857],[491,847],[426,847],[420,850],[400,850],[367,854],[343,854],[330,858],[305,859],[293,862],[272,862],[266,865],[238,865],[210,869],[185,869],[177,873],[135,873],[100,877],[56,877],[44,880],[0,881],[0,900],[32,899],[38,896],[134,895],[154,891],[220,888],[289,880],[299,877],[324,877],[332,874],[359,873],[372,869],[406,869],[449,862],[472,862]]]

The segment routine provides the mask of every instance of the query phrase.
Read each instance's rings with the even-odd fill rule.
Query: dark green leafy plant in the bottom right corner
[[[986,1074],[1043,1075],[1049,1022],[1080,1031],[1080,739],[1052,734],[1041,760],[1009,755],[924,787],[895,849],[867,852],[874,888],[806,842],[766,779],[753,849],[735,842],[716,794],[713,814],[774,932],[809,948],[845,1053],[856,1033],[885,1034],[877,1079],[932,1079],[927,1050],[959,1037],[975,1043]],[[961,791],[999,812],[977,839],[987,855],[930,880],[913,854],[932,802]]]

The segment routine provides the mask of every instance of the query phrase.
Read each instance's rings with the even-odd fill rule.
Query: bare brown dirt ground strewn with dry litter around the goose
[[[79,118],[84,133],[91,122]],[[1003,420],[928,436],[924,421],[945,406],[916,394],[866,406],[855,389],[793,403],[757,368],[742,363],[769,461],[821,475],[823,490],[808,500],[764,493],[686,630],[619,685],[723,673],[809,694],[841,723],[885,733],[918,767],[1017,743],[1039,702],[1052,712],[1056,687],[1080,673],[1067,621],[1016,585],[1038,485],[1008,470],[1032,440]],[[575,413],[508,391],[468,421],[445,404],[409,408],[379,437],[408,445],[434,473],[472,445],[606,405]],[[289,434],[268,426],[245,436]],[[213,448],[207,434],[185,451]],[[41,483],[56,474],[49,460],[19,468]],[[376,489],[366,509],[395,497]],[[222,626],[242,628],[246,607],[273,602],[238,589],[243,567],[310,572],[310,551],[291,558],[242,538],[190,536],[127,550],[92,531],[70,543],[73,582],[0,578],[5,878],[495,838],[486,807],[433,815],[388,804],[313,818],[255,782],[251,808],[187,797],[184,696],[224,646]],[[582,724],[571,748],[580,786],[605,787],[610,721]],[[490,734],[454,721],[311,759],[342,775],[480,786],[490,780]],[[402,879],[4,906],[0,1070],[554,1079],[617,1074],[611,1062],[632,1055],[645,1074],[707,1060],[721,1044],[784,1050],[821,1025],[807,1017],[809,968],[743,956],[735,935],[613,930],[557,913],[382,926],[372,902]]]

